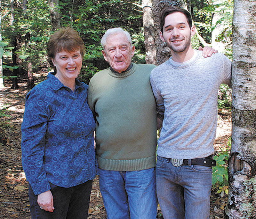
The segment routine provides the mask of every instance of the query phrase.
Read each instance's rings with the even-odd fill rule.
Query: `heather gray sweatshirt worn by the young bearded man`
[[[220,84],[231,86],[231,62],[221,53],[188,61],[170,58],[152,70],[150,83],[163,118],[157,155],[193,159],[213,154]]]

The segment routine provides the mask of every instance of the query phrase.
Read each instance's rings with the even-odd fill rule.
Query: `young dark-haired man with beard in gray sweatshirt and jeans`
[[[163,10],[160,38],[172,57],[152,70],[150,83],[163,120],[156,190],[166,219],[209,218],[218,89],[230,86],[231,62],[220,53],[205,59],[191,46],[194,34],[188,11]]]

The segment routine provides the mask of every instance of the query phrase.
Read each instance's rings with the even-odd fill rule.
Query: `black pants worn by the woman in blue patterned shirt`
[[[30,213],[32,219],[86,219],[92,190],[92,180],[70,188],[50,183],[53,196],[53,212],[40,209],[37,195],[28,187]]]

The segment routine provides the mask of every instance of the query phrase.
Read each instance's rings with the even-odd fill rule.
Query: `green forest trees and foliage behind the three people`
[[[45,56],[46,43],[59,27],[74,28],[84,41],[86,52],[79,79],[87,84],[93,74],[108,67],[100,45],[108,28],[122,27],[131,34],[136,49],[133,62],[146,63],[148,51],[145,48],[147,44],[154,44],[148,38],[144,39],[144,32],[152,28],[150,19],[153,15],[143,18],[143,11],[144,15],[151,13],[146,10],[152,5],[149,0],[1,0],[0,4],[3,70],[10,69],[16,76],[27,74],[30,88],[34,86],[33,72],[49,67]],[[211,45],[231,58],[233,1],[189,0],[184,4],[197,29],[193,47]],[[150,56],[153,59],[154,55]],[[13,87],[16,88],[17,83]]]

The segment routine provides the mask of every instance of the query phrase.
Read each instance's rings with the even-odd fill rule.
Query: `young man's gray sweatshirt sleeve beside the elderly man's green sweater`
[[[154,77],[156,77],[156,74],[152,74],[152,72],[150,74],[150,84],[152,87],[153,94],[156,98],[157,117],[161,120],[164,120],[164,99],[161,96],[160,91],[156,87],[155,78],[154,78]]]

